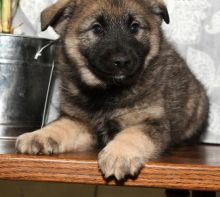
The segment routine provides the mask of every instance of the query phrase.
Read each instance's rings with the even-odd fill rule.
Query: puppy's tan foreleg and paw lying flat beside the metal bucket
[[[79,121],[61,118],[43,129],[25,133],[17,138],[19,153],[53,154],[84,151],[94,144],[86,125]]]

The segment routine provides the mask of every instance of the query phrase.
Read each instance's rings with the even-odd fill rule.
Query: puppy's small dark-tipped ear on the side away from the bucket
[[[167,24],[170,23],[169,13],[164,0],[147,0],[150,2],[151,11],[160,16]]]

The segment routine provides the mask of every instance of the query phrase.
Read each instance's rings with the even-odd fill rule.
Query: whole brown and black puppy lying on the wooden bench
[[[60,0],[47,8],[42,29],[61,35],[61,117],[18,137],[18,152],[98,146],[104,176],[121,180],[196,135],[207,96],[163,37],[163,20],[169,23],[162,0]]]

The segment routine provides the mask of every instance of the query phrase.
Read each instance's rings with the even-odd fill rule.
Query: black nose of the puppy
[[[128,55],[117,54],[112,57],[112,65],[117,68],[129,68],[131,66],[131,59]]]

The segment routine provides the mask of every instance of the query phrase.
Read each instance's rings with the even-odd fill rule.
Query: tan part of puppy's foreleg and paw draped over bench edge
[[[134,126],[121,131],[100,152],[98,162],[106,178],[134,176],[149,158],[158,156],[155,144],[142,130],[141,126]]]

